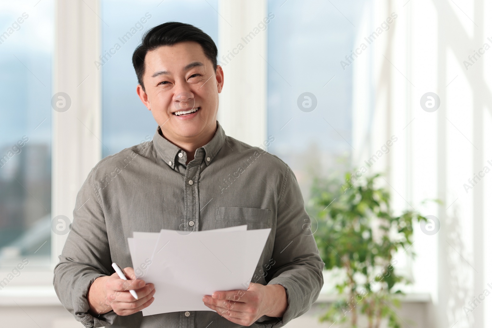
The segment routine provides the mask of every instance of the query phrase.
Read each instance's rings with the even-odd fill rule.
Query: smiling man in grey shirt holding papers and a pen
[[[282,327],[318,297],[324,264],[295,176],[276,156],[225,135],[216,121],[224,84],[216,58],[209,35],[177,22],[149,30],[133,54],[137,93],[157,130],[92,169],[55,268],[58,297],[85,327]],[[243,224],[272,229],[246,291],[204,296],[213,311],[143,316],[154,285],[135,279],[132,232]],[[133,280],[120,279],[112,262]]]

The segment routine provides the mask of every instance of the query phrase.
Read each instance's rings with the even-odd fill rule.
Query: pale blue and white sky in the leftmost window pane
[[[0,34],[27,16],[0,44],[1,148],[24,135],[32,143],[51,142],[53,1],[35,3],[0,1]]]

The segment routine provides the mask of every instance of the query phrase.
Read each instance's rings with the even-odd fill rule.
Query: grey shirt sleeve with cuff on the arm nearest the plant
[[[282,285],[287,294],[287,310],[282,318],[257,322],[258,327],[282,327],[311,308],[323,286],[325,264],[310,229],[310,218],[292,170],[287,166],[277,203],[277,231],[268,285]],[[268,276],[267,276],[268,277]]]

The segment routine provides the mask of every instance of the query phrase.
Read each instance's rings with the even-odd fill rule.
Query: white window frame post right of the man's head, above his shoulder
[[[247,44],[243,39],[268,16],[268,1],[218,0],[218,7],[218,63],[224,70],[224,88],[217,119],[227,135],[259,147],[267,137],[268,30]],[[241,51],[235,50],[239,43],[245,46]],[[223,58],[231,52],[237,54]]]

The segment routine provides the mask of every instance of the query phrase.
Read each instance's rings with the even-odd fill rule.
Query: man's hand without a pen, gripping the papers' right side
[[[287,309],[287,294],[282,285],[250,283],[247,291],[215,292],[204,296],[203,302],[227,320],[250,326],[264,315],[281,318]]]

